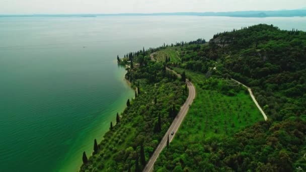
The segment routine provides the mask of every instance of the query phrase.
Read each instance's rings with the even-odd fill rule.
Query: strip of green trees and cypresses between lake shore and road
[[[127,100],[116,122],[110,121],[101,143],[93,140],[93,152],[84,152],[80,171],[141,171],[187,99],[185,82],[151,61],[151,52],[143,48],[117,57],[119,64],[128,65],[125,78],[135,98]]]

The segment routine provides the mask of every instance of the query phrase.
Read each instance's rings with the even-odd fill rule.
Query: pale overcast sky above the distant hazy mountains
[[[227,12],[305,7],[306,0],[0,0],[0,14]]]

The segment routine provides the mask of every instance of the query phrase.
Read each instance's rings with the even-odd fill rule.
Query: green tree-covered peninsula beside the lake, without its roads
[[[306,169],[305,32],[261,24],[117,60],[135,98],[80,171],[141,171],[188,96],[186,78],[196,98],[154,171]]]

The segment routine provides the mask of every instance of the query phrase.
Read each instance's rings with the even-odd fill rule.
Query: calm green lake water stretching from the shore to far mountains
[[[299,17],[0,18],[0,171],[77,171],[134,95],[117,54],[259,23],[306,30]]]

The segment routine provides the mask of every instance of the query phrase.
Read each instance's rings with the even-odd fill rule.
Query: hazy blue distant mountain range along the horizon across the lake
[[[204,13],[122,13],[122,14],[35,14],[0,15],[0,17],[97,17],[97,16],[223,16],[223,17],[306,17],[306,9],[279,11],[239,11]]]

